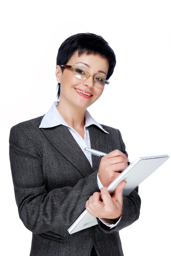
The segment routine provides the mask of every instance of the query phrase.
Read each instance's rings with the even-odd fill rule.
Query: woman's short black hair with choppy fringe
[[[106,40],[100,35],[92,33],[79,33],[70,36],[58,49],[58,55],[56,58],[56,65],[66,65],[73,54],[78,51],[78,56],[82,53],[99,54],[104,56],[109,61],[109,70],[106,79],[113,74],[114,67],[116,65],[116,58],[113,49],[109,46]],[[60,96],[60,83],[58,83],[58,94]]]

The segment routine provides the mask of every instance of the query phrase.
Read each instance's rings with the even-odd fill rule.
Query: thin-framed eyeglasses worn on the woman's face
[[[82,68],[80,68],[80,67],[71,66],[71,65],[60,65],[60,67],[65,67],[65,68],[70,69],[73,72],[73,75],[82,81],[86,81],[87,79],[89,79],[90,76],[92,76],[94,78],[93,83],[98,88],[102,88],[102,87],[104,88],[105,84],[109,85],[108,80],[106,80],[100,76],[93,76],[86,70],[82,70]]]

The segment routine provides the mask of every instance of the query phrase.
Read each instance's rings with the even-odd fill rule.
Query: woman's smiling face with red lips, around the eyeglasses
[[[93,76],[106,78],[109,69],[107,58],[98,54],[83,53],[78,57],[78,52],[73,54],[66,65],[74,65],[83,70],[86,70]],[[93,104],[102,94],[104,88],[94,85],[94,79],[90,76],[86,81],[82,81],[73,75],[72,70],[64,68],[63,73],[61,67],[56,67],[56,78],[60,83],[60,102],[69,104],[73,107],[87,109]],[[95,82],[96,83],[96,82]],[[78,91],[79,90],[79,91]],[[84,94],[82,93],[84,92]],[[87,95],[91,94],[91,96]]]

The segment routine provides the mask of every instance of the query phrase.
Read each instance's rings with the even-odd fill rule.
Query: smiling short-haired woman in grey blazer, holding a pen
[[[138,189],[123,197],[123,181],[112,196],[107,192],[129,160],[120,131],[101,126],[87,111],[102,95],[114,67],[115,54],[101,36],[67,38],[57,56],[59,102],[43,117],[11,128],[16,202],[33,233],[30,256],[123,255],[118,231],[139,218]],[[100,159],[84,147],[108,155]],[[85,207],[98,225],[69,234]]]

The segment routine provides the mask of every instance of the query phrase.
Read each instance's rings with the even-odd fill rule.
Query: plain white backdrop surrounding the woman
[[[11,126],[56,99],[56,55],[72,34],[102,35],[117,64],[89,108],[120,129],[130,162],[171,155],[171,8],[152,0],[4,0],[0,3],[1,255],[27,256],[31,232],[18,217],[8,156]],[[140,218],[120,231],[124,256],[170,254],[170,159],[140,185]]]

